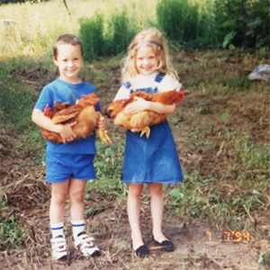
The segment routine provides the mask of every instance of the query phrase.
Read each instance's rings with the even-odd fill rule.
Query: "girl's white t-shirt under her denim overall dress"
[[[155,82],[155,78],[158,72],[154,72],[150,75],[138,75],[134,78],[130,78],[130,87],[127,88],[121,85],[118,93],[114,97],[115,100],[130,98],[130,90],[136,90],[141,88],[153,88],[157,87],[157,91],[166,92],[171,90],[179,91],[182,85],[172,76],[164,76],[160,83]]]

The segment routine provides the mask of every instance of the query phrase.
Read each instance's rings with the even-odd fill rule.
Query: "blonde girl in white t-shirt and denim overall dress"
[[[171,66],[162,34],[155,28],[139,32],[132,40],[122,69],[123,83],[114,101],[130,97],[135,91],[151,94],[179,91],[175,69]],[[126,106],[125,111],[174,113],[175,104],[163,105],[139,99]],[[150,128],[150,136],[140,137],[140,130],[128,130],[123,165],[123,182],[129,184],[128,215],[132,247],[138,257],[148,256],[139,228],[139,199],[143,184],[151,194],[152,236],[164,251],[173,251],[174,244],[162,232],[164,199],[162,184],[184,180],[175,142],[167,121]]]

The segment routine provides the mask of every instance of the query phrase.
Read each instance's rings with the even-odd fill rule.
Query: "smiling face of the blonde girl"
[[[136,56],[136,67],[140,75],[150,75],[157,70],[158,60],[155,51],[147,45],[142,45]]]

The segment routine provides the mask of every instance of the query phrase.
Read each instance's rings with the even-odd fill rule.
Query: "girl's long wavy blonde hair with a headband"
[[[156,28],[148,28],[140,31],[131,41],[128,56],[123,59],[123,67],[121,70],[122,80],[126,81],[130,77],[135,77],[139,74],[136,67],[136,56],[138,49],[142,46],[152,48],[158,60],[157,71],[161,74],[167,74],[179,80],[178,75],[171,64],[167,53],[166,42],[163,35]]]

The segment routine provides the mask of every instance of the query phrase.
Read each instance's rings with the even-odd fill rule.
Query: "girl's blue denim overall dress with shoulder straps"
[[[157,74],[155,82],[164,75]],[[125,83],[130,88],[130,83]],[[132,92],[157,93],[156,88],[140,88]],[[167,121],[150,127],[150,136],[127,130],[123,162],[123,182],[126,184],[175,184],[184,180],[175,141]]]

